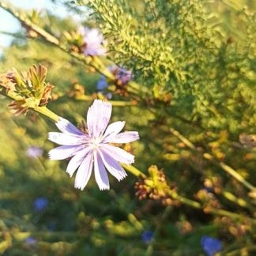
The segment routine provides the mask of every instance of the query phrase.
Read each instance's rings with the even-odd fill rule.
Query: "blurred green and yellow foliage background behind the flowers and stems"
[[[141,201],[135,195],[137,178],[131,174],[120,183],[109,177],[111,190],[107,192],[100,191],[94,179],[84,191],[75,190],[73,179],[65,172],[67,161],[47,157],[55,147],[47,141],[47,133],[57,131],[55,124],[32,111],[14,117],[6,107],[9,100],[1,96],[0,253],[204,255],[200,241],[208,235],[221,241],[220,254],[254,255],[256,229],[247,217],[255,218],[255,194],[248,194],[218,164],[188,149],[169,128],[179,130],[199,151],[210,152],[216,161],[228,163],[255,184],[255,14],[248,14],[255,11],[255,3],[181,1],[179,6],[175,1],[111,2],[124,9],[116,18],[120,24],[112,26],[100,13],[104,7],[93,9],[92,5],[98,13],[91,17],[89,9],[78,6],[79,1],[46,1],[47,10],[36,14],[13,9],[64,43],[68,43],[64,32],[77,30],[78,23],[99,26],[110,50],[105,65],[115,62],[132,70],[134,81],[149,92],[143,94],[141,89],[137,106],[113,107],[112,122],[126,120],[126,130],[139,131],[140,141],[131,145],[136,168],[149,175],[148,168],[156,164],[179,194],[239,213],[244,220],[205,214],[178,203],[167,206],[150,198]],[[149,8],[154,12],[148,13]],[[205,13],[200,17],[197,12],[202,8]],[[115,8],[111,11],[115,13]],[[131,39],[122,33],[127,29],[122,19],[130,13],[134,15]],[[86,96],[96,96],[100,74],[40,37],[29,37],[28,29],[13,32],[6,28],[1,30],[12,34],[11,44],[2,49],[0,73],[13,67],[28,70],[39,63],[47,66],[47,81],[55,85],[48,107],[75,124],[85,119],[92,100],[73,95],[85,90]],[[144,43],[137,47],[141,38]],[[170,56],[164,51],[168,47]],[[169,95],[171,102],[164,100]],[[133,100],[120,95],[112,100],[129,97]],[[239,140],[241,134],[249,139],[246,145]],[[42,154],[31,156],[32,146],[42,149]]]

